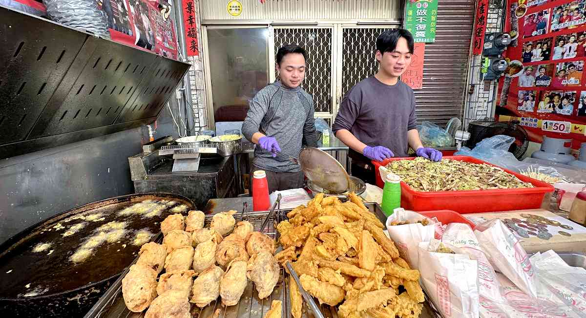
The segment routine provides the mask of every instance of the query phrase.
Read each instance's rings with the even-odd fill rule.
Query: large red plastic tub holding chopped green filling
[[[444,157],[446,159],[466,161],[475,164],[490,164],[465,155]],[[384,187],[380,178],[379,167],[395,160],[413,160],[409,158],[389,158],[384,161],[372,161],[376,173],[376,185]],[[493,165],[493,164],[490,164]],[[536,209],[541,207],[541,201],[554,188],[546,182],[541,182],[525,175],[506,170],[524,182],[530,182],[534,188],[468,190],[468,191],[415,191],[401,181],[401,207],[412,211],[435,211],[448,209],[459,213],[499,212],[522,209]]]

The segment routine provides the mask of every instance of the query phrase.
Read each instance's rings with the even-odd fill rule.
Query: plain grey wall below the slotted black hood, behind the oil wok
[[[155,138],[176,137],[167,107]],[[131,194],[128,157],[148,142],[147,127],[0,160],[0,243],[79,205]]]

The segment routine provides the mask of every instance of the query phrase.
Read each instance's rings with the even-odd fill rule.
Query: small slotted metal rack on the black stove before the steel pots
[[[163,146],[159,155],[173,155],[172,172],[188,172],[199,170],[200,154],[217,153],[216,144],[200,144],[198,146]]]

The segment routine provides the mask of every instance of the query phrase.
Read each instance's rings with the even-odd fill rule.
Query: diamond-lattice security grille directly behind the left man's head
[[[332,29],[283,28],[274,31],[275,53],[281,46],[295,44],[307,51],[302,88],[314,97],[315,111],[332,112]],[[275,77],[279,79],[275,70]]]

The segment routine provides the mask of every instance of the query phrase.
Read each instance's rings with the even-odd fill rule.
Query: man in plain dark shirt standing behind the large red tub
[[[415,116],[415,96],[399,77],[413,55],[413,36],[404,29],[381,33],[376,40],[379,72],[357,83],[346,94],[332,126],[349,148],[352,175],[374,184],[371,160],[407,157],[411,147],[419,157],[440,161],[442,154],[421,144]]]

